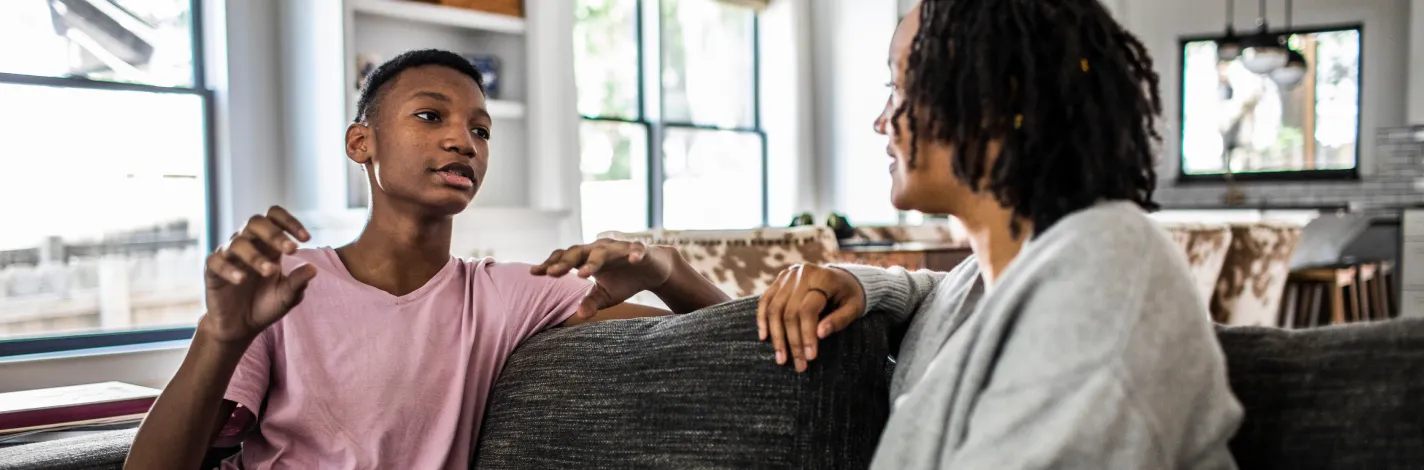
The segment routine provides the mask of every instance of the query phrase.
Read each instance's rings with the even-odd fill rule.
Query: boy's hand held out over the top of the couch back
[[[674,263],[679,259],[669,246],[605,238],[555,249],[543,263],[530,268],[530,273],[558,278],[577,269],[580,278],[594,278],[594,288],[574,313],[587,319],[638,292],[661,288],[672,276]]]

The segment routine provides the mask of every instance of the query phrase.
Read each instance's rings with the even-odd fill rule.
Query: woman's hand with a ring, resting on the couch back
[[[826,313],[826,318],[820,318]],[[816,343],[846,329],[866,312],[860,281],[844,269],[795,265],[782,271],[756,306],[756,335],[770,335],[776,363],[785,365],[787,348],[796,372],[816,359]]]

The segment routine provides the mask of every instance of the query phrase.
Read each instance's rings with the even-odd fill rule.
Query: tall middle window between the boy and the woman
[[[765,225],[756,10],[718,0],[575,9],[584,238]]]

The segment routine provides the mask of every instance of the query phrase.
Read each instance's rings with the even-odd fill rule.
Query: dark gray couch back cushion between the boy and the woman
[[[863,469],[889,416],[886,323],[822,345],[809,372],[756,340],[756,298],[553,329],[494,386],[478,469]]]

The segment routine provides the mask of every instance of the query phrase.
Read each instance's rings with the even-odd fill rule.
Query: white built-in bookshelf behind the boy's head
[[[285,10],[285,114],[292,122],[286,135],[288,191],[295,209],[330,215],[323,225],[333,241],[359,231],[369,191],[365,172],[340,145],[359,98],[357,56],[380,63],[416,48],[488,54],[500,63],[497,88],[487,100],[496,135],[490,168],[474,204],[456,224],[456,239],[494,245],[460,249],[493,251],[510,259],[504,254],[524,256],[578,241],[570,1],[525,0],[523,19],[406,0],[279,6]],[[474,236],[480,224],[510,229]]]

